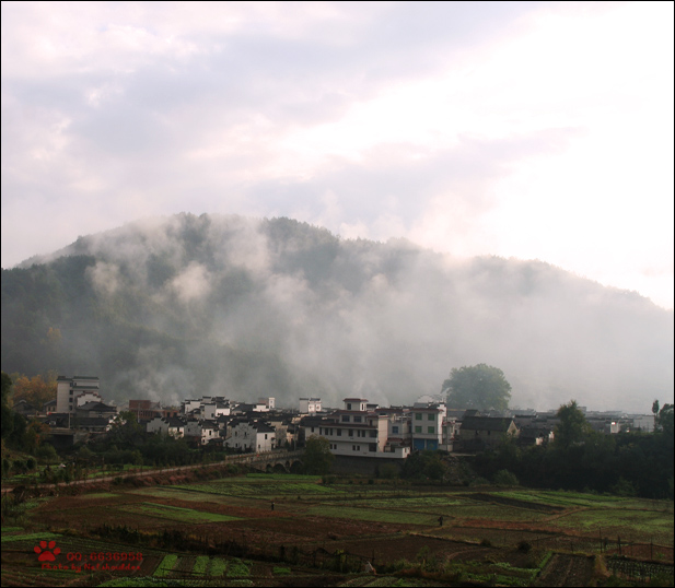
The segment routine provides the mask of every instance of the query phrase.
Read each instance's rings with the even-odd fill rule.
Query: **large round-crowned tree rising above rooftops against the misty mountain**
[[[511,385],[498,367],[478,364],[453,367],[450,378],[443,381],[441,393],[447,395],[447,403],[452,407],[507,410],[511,399]]]

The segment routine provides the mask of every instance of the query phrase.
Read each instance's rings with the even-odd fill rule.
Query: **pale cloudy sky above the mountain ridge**
[[[290,216],[673,308],[673,2],[2,2],[2,267]]]

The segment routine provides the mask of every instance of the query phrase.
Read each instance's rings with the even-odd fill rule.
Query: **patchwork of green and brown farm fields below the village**
[[[2,586],[595,586],[608,568],[673,581],[673,503],[366,482],[248,474],[40,498],[3,519]]]

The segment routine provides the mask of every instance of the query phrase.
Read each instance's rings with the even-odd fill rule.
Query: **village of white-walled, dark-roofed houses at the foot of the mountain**
[[[474,454],[496,448],[511,437],[520,446],[554,439],[557,410],[488,411],[447,407],[440,396],[421,396],[411,405],[381,407],[364,398],[345,398],[341,408],[326,408],[319,398],[299,398],[298,408],[280,408],[275,398],[242,402],[224,397],[186,399],[164,407],[147,399],[116,405],[106,402],[95,376],[59,376],[57,398],[42,414],[25,410],[48,425],[55,447],[98,438],[132,414],[148,434],[185,438],[194,447],[232,452],[294,449],[311,436],[324,437],[330,452],[349,458],[404,460],[415,450]],[[23,407],[18,403],[16,412]],[[653,415],[619,412],[585,413],[598,433],[652,432]]]

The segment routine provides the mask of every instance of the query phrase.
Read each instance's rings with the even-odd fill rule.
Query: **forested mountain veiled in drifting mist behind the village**
[[[542,261],[183,213],[3,269],[1,363],[98,375],[118,400],[289,407],[410,403],[453,367],[487,363],[512,405],[649,413],[673,401],[673,313]]]

